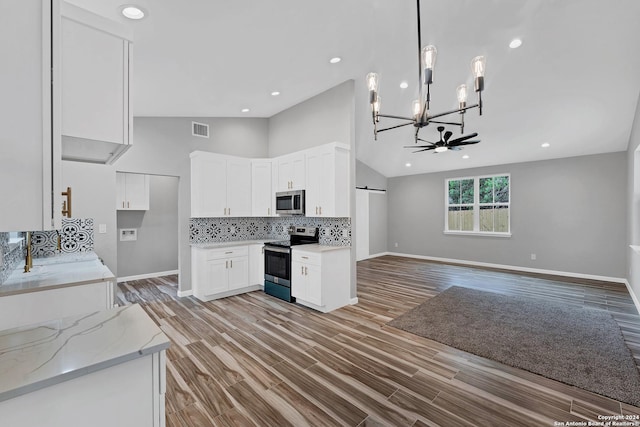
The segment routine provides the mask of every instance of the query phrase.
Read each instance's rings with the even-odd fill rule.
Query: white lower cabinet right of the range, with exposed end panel
[[[323,313],[348,305],[351,250],[304,245],[291,256],[291,295],[296,302]]]

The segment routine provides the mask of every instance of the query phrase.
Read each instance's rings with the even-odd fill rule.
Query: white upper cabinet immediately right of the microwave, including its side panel
[[[349,149],[338,143],[306,152],[306,216],[348,217]]]

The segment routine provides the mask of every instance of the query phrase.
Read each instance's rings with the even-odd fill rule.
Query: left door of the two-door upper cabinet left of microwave
[[[191,154],[191,216],[225,216],[227,212],[227,161],[212,153]]]

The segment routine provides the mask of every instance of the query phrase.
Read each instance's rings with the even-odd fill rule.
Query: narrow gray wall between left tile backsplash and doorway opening
[[[116,246],[116,175],[113,166],[62,162],[62,187],[71,187],[71,214],[94,219],[93,250],[118,274]],[[100,234],[99,225],[107,232]]]

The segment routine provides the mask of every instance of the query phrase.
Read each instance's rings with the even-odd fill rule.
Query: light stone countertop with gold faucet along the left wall
[[[0,285],[0,297],[107,280],[115,281],[115,276],[95,252],[34,258],[29,273],[25,273],[24,265],[20,264]]]

